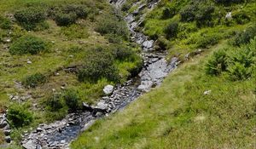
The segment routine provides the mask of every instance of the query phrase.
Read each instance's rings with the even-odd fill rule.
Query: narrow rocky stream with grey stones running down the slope
[[[111,0],[110,3],[119,9],[125,0]],[[143,93],[160,85],[167,74],[177,67],[177,58],[172,58],[171,62],[167,62],[165,59],[166,51],[155,51],[154,41],[135,30],[145,17],[145,14],[139,12],[145,8],[153,9],[157,3],[159,0],[152,3],[134,3],[138,9],[125,16],[125,21],[131,32],[131,40],[142,47],[143,69],[137,77],[131,78],[122,85],[115,86],[113,93],[102,97],[96,106],[89,106],[84,103],[84,112],[68,114],[61,121],[49,124],[42,123],[32,132],[25,132],[21,140],[21,145],[24,148],[68,148],[71,141],[75,140],[79,133],[88,129],[96,119],[108,117],[111,113],[122,110]]]

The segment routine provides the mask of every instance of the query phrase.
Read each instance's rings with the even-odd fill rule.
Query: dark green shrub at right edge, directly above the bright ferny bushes
[[[256,26],[250,26],[247,28],[247,30],[243,32],[237,32],[236,36],[233,40],[231,40],[231,43],[234,46],[241,46],[241,44],[249,43],[253,37],[256,36]]]

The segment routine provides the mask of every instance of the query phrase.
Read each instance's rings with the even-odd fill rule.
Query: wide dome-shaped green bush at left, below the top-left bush
[[[10,54],[38,54],[47,49],[47,44],[39,37],[23,36],[15,40],[9,48]]]

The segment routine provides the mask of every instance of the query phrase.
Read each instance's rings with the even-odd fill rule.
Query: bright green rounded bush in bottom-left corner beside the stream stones
[[[16,128],[32,123],[32,112],[26,109],[26,106],[13,104],[9,106],[7,118],[10,124]]]

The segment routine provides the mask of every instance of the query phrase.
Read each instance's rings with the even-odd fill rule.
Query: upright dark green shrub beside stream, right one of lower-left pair
[[[78,93],[74,90],[66,90],[63,99],[71,111],[74,112],[80,109],[81,99],[79,98]]]

